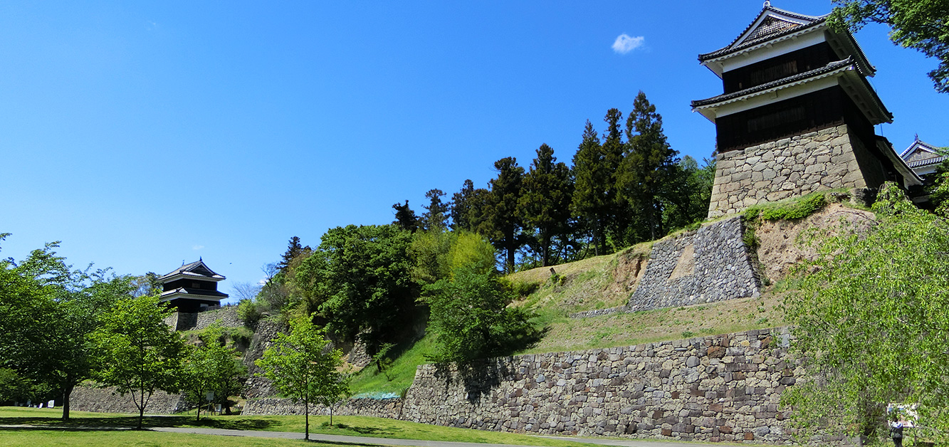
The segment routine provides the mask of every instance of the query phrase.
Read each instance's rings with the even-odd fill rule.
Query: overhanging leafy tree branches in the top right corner
[[[838,6],[828,22],[854,31],[868,23],[890,27],[900,47],[914,48],[939,61],[929,78],[940,93],[949,93],[949,2],[945,0],[833,0]]]

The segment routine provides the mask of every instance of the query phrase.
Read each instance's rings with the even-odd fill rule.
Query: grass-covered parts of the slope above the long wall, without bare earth
[[[808,196],[793,197],[772,204],[754,207],[749,214],[791,216],[800,218],[819,211],[824,201],[815,202],[815,196],[829,197],[840,190],[822,191]],[[849,206],[845,204],[846,206]],[[780,218],[780,217],[776,217]],[[671,237],[675,234],[670,234]],[[538,323],[549,327],[547,336],[525,353],[580,350],[597,347],[638,345],[642,343],[677,340],[694,336],[739,332],[763,327],[784,326],[780,309],[781,293],[787,283],[766,288],[759,298],[741,298],[690,307],[663,308],[635,313],[613,314],[584,319],[570,319],[573,312],[626,304],[631,291],[618,284],[617,275],[625,274],[620,282],[628,283],[629,271],[623,271],[624,261],[636,257],[648,258],[652,243],[643,243],[624,251],[581,261],[554,266],[557,279],[551,279],[549,267],[520,271],[508,279],[523,289],[535,285],[529,296],[514,306],[528,307],[538,314]],[[628,264],[628,263],[627,263]],[[625,265],[628,268],[628,265]],[[370,366],[356,377],[354,391],[400,392],[411,385],[415,368],[425,363],[424,354],[431,352],[434,341],[427,337],[416,347],[395,361],[387,379]]]

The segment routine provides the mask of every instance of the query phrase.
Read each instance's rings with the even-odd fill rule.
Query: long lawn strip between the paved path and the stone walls
[[[135,427],[138,415],[70,412],[71,419],[63,422],[59,409],[0,407],[0,425],[28,424],[56,427],[92,427],[92,428],[131,428]],[[274,432],[304,431],[303,416],[202,416],[201,422],[195,422],[195,414],[174,416],[149,416],[142,423],[149,427],[206,427],[231,430],[268,430]],[[536,438],[512,433],[486,432],[464,428],[442,427],[396,419],[368,418],[362,416],[334,416],[333,426],[329,426],[329,417],[310,416],[310,433],[326,435],[362,436],[374,438],[425,439],[460,442],[481,442],[494,444],[539,445],[550,447],[580,447],[589,444],[557,439]],[[0,430],[0,435],[9,431]],[[70,432],[80,433],[80,432]],[[101,432],[100,432],[101,433]],[[107,432],[110,434],[119,432]],[[0,442],[0,445],[8,445]],[[59,444],[48,444],[59,445]],[[69,444],[62,444],[69,445]],[[73,444],[75,445],[75,444]],[[120,445],[120,444],[116,444]],[[125,445],[125,444],[121,444]],[[132,444],[129,444],[132,445]],[[139,444],[135,444],[139,445]],[[146,445],[146,444],[142,444]],[[165,445],[165,444],[154,444]],[[197,444],[195,444],[197,445]],[[251,445],[251,444],[248,444]],[[269,444],[270,445],[270,444]]]

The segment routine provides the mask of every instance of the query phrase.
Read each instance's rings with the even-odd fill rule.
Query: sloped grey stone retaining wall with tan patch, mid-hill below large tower
[[[656,242],[627,310],[757,296],[760,284],[743,234],[735,216]]]

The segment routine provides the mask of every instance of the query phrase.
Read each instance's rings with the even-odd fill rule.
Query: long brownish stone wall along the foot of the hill
[[[540,435],[787,442],[788,330],[424,364],[401,419]],[[834,440],[834,439],[827,439]]]

